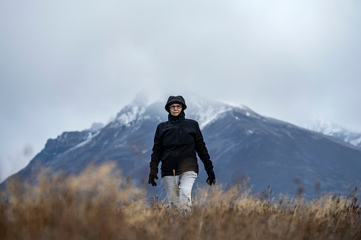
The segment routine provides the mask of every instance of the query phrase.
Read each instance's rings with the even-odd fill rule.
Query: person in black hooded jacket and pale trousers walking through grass
[[[196,153],[208,174],[206,183],[216,184],[216,176],[198,122],[184,118],[186,108],[182,96],[168,98],[168,121],[157,125],[155,131],[148,183],[157,185],[158,164],[162,161],[161,175],[171,207],[189,211],[191,188],[199,172]]]

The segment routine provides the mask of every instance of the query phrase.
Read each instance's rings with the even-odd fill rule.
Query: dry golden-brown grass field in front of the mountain
[[[112,164],[77,177],[14,181],[0,202],[0,239],[361,239],[361,207],[323,195],[262,198],[242,186],[194,193],[188,214],[122,180]]]

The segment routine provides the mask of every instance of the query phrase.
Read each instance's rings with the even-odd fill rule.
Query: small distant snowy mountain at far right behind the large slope
[[[324,135],[340,139],[343,142],[348,142],[361,148],[361,132],[345,130],[345,128],[340,127],[329,120],[317,120],[313,125],[306,128],[315,132],[321,132]]]

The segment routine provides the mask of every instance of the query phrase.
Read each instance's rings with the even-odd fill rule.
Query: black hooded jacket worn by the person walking
[[[182,103],[182,99],[171,103]],[[167,103],[168,106],[169,103],[170,101]],[[182,103],[182,105],[185,105],[185,103]],[[157,125],[150,161],[150,171],[152,173],[156,174],[158,172],[160,161],[162,161],[160,168],[162,177],[172,176],[174,174],[173,170],[175,175],[192,170],[198,173],[199,166],[196,153],[203,161],[206,171],[213,171],[212,161],[198,122],[186,119],[183,110],[178,116],[169,114],[167,122],[161,122]]]

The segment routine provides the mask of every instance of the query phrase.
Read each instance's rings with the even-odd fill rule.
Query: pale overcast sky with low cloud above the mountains
[[[358,0],[0,0],[0,181],[139,92],[361,132],[360,24]]]

